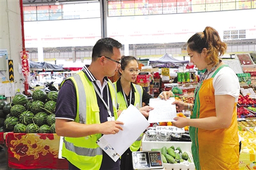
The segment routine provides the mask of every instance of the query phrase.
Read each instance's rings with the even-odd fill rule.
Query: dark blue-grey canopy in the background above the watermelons
[[[47,62],[33,62],[29,61],[29,67],[31,69],[46,69],[46,70],[65,70],[62,66],[50,64]]]

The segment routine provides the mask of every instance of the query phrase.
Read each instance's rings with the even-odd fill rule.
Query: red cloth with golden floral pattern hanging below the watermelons
[[[59,138],[55,133],[7,133],[9,167],[68,169],[68,161],[58,159]]]

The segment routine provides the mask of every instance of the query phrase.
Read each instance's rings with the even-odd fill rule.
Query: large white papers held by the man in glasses
[[[117,134],[103,135],[97,141],[99,147],[114,161],[135,142],[144,130],[150,126],[147,119],[133,105],[124,110],[117,120],[124,123],[123,131]]]

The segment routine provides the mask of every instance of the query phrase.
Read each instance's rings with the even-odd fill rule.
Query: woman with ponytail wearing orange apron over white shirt
[[[190,119],[176,117],[173,126],[190,126],[191,151],[197,170],[239,169],[237,102],[239,80],[219,60],[227,45],[218,32],[206,27],[187,41],[190,62],[206,69],[195,89],[194,104],[176,101],[177,110],[190,110]]]

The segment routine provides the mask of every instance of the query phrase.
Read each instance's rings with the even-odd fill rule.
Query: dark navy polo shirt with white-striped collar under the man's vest
[[[92,83],[95,83],[96,81],[95,77],[92,75],[92,73],[88,70],[86,66],[84,66],[83,72]],[[108,81],[108,78],[105,77],[104,80]],[[108,84],[106,86],[108,86]],[[106,86],[103,89],[103,100],[105,101],[106,104],[108,104],[108,98],[110,99],[109,108],[111,110],[112,116],[114,116],[111,94],[109,91],[109,96],[108,96],[107,90],[109,88],[107,88]],[[100,88],[97,85],[96,87],[100,91]],[[96,93],[96,96],[97,96],[97,103],[99,106],[100,123],[104,123],[108,121],[107,117],[109,116],[109,113],[97,93]],[[86,104],[85,101],[79,101],[79,102],[84,102],[84,104]],[[57,99],[57,104],[55,109],[55,118],[74,120],[76,117],[76,111],[77,111],[76,107],[77,107],[77,100],[76,100],[75,86],[71,80],[67,80],[63,83],[58,93],[58,99]],[[101,162],[100,169],[119,170],[120,169],[119,164],[120,164],[119,160],[114,162],[113,159],[111,159],[103,151],[103,159]]]

